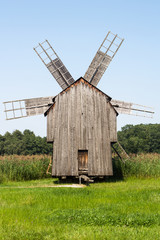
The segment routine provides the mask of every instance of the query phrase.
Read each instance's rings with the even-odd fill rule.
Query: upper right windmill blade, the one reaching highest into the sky
[[[109,31],[85,73],[84,79],[97,86],[123,41],[124,39]]]

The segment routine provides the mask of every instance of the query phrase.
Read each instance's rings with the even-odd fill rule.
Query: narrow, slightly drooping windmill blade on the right
[[[119,114],[129,114],[147,118],[152,118],[154,114],[153,108],[135,103],[112,99],[111,104]]]

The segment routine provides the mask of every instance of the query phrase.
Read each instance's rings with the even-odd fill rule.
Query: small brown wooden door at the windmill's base
[[[78,171],[88,172],[88,150],[78,150]]]

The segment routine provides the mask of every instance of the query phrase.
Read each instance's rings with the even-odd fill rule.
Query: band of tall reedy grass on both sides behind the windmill
[[[0,183],[46,178],[50,156],[0,156]],[[112,179],[160,177],[160,154],[131,155],[124,161],[114,158]]]

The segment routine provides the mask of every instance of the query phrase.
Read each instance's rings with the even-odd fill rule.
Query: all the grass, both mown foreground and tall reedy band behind
[[[50,187],[48,163],[0,157],[0,240],[160,239],[160,154],[116,159],[108,182],[77,189]]]

